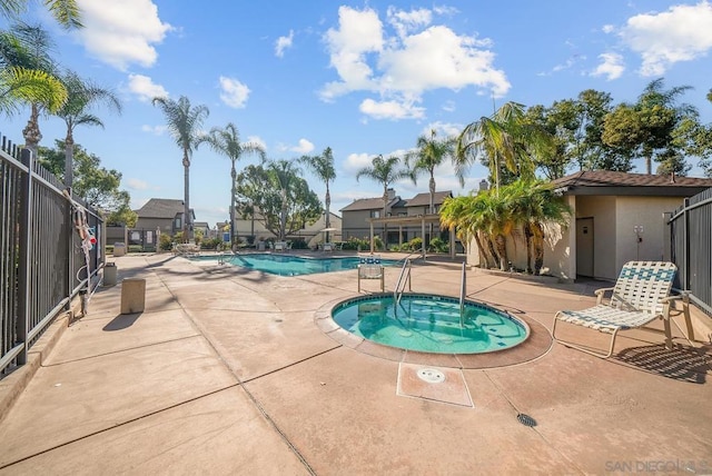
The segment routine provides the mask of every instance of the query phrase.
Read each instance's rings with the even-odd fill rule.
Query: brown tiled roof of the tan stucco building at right
[[[712,179],[698,177],[583,170],[553,180],[555,189],[571,195],[669,195],[692,196],[712,187]]]

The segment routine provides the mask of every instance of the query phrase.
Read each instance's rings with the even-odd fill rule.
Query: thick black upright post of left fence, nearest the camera
[[[18,365],[27,364],[30,330],[30,269],[32,269],[32,166],[34,159],[30,149],[22,149],[20,161],[27,167],[27,177],[20,189],[20,266],[18,269],[18,316],[17,340],[22,343],[18,354]]]

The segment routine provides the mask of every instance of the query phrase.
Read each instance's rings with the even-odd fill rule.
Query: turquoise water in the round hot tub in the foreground
[[[459,301],[437,295],[376,295],[340,303],[332,310],[336,324],[385,346],[435,354],[482,354],[514,347],[528,337],[517,318],[466,301],[461,327]]]

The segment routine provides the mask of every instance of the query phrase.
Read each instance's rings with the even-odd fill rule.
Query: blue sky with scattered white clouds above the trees
[[[704,99],[712,88],[709,1],[78,3],[83,30],[63,32],[42,11],[34,18],[52,32],[61,65],[120,97],[121,116],[97,110],[106,128],[79,127],[75,139],[122,173],[134,208],[152,197],[184,196],[181,151],[151,106],[156,96],[207,106],[206,131],[234,122],[241,139],[260,142],[270,159],[332,147],[333,211],[380,196],[377,182],[355,179],[376,155],[404,152],[432,128],[457,133],[510,100],[551,106],[596,89],[615,102],[634,101],[664,77],[666,88],[692,86],[682,100],[712,122]],[[0,130],[21,142],[27,117],[3,118]],[[65,137],[57,119],[40,127],[43,146]],[[229,169],[229,160],[207,147],[194,155],[197,220],[228,218]],[[448,165],[438,170],[437,189],[467,194],[486,175],[473,166],[461,188]],[[323,198],[324,185],[305,177]],[[395,188],[409,198],[427,191],[427,177]]]

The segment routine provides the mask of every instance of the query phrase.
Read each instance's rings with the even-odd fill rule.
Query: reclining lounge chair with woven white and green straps
[[[670,296],[678,267],[665,261],[629,261],[623,265],[615,286],[597,289],[594,307],[583,310],[560,310],[554,316],[552,336],[554,340],[596,357],[609,358],[613,354],[615,337],[620,330],[642,327],[655,319],[663,319],[665,346],[672,348],[670,330]],[[605,294],[612,291],[610,298]],[[607,354],[591,350],[556,338],[556,323],[566,321],[611,334]],[[655,329],[646,329],[655,330]]]

